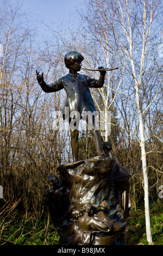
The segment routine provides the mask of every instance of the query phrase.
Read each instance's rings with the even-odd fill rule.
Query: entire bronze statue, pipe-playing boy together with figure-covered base
[[[58,166],[60,179],[49,176],[48,208],[60,235],[60,245],[122,245],[130,208],[129,172],[116,162],[110,142],[101,147],[94,115],[90,132],[97,156],[78,161],[79,121],[72,126],[77,112],[80,120],[84,113],[96,111],[89,88],[102,88],[106,70],[117,68],[99,67],[100,77],[95,80],[78,73],[83,59],[79,52],[68,52],[64,61],[69,74],[51,84],[46,84],[43,73],[40,75],[36,71],[37,81],[44,92],[66,91],[63,118],[70,124],[73,155],[72,163]],[[88,115],[84,117],[88,124]]]

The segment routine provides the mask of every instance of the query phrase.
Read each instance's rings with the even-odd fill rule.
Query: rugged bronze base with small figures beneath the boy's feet
[[[124,243],[128,207],[122,195],[124,189],[128,192],[128,178],[118,168],[105,150],[102,156],[61,164],[60,180],[49,176],[49,212],[60,245]]]

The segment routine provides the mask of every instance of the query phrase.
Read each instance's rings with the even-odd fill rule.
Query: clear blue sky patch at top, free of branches
[[[39,31],[43,28],[42,22],[48,26],[53,23],[53,28],[57,29],[62,22],[78,21],[76,10],[84,8],[84,0],[20,0],[20,3]]]

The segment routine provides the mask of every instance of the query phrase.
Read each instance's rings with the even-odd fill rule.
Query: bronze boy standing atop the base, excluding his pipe
[[[76,111],[80,113],[80,118],[82,118],[82,112],[95,112],[96,108],[92,100],[92,96],[90,93],[89,88],[102,88],[104,84],[105,74],[106,71],[100,71],[100,77],[99,80],[95,80],[94,78],[90,78],[86,75],[81,75],[78,73],[82,67],[82,61],[84,57],[82,54],[76,51],[68,52],[65,55],[65,65],[66,68],[69,69],[69,74],[66,76],[63,76],[59,78],[59,80],[55,81],[51,84],[46,84],[45,81],[43,81],[43,73],[42,75],[39,74],[39,72],[36,71],[37,81],[39,82],[42,90],[46,93],[52,93],[52,92],[58,92],[61,89],[66,90],[66,101],[65,101],[65,107],[69,108],[69,114],[72,111]],[[69,115],[70,116],[70,115]],[[65,108],[63,111],[63,117],[65,117]],[[69,123],[71,120],[69,119]],[[86,121],[88,123],[88,118],[86,117]],[[78,125],[76,125],[76,129],[71,129],[70,126],[70,133],[71,133],[71,147],[72,147],[72,155],[73,155],[73,162],[78,161]],[[92,129],[90,130],[93,143],[96,147],[97,155],[102,155],[102,149],[101,149],[101,141],[99,137],[98,130],[95,129],[95,116],[92,115]]]

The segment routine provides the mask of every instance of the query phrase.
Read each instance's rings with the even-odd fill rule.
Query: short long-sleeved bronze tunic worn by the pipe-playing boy
[[[69,107],[69,114],[72,111],[78,111],[82,115],[83,111],[96,111],[89,88],[101,88],[103,84],[104,76],[102,75],[100,75],[97,81],[94,78],[77,73],[76,75],[67,74],[52,84],[46,84],[42,81],[40,86],[46,93],[58,92],[61,89],[65,89],[67,94],[65,107]],[[64,111],[63,114],[65,114]]]

